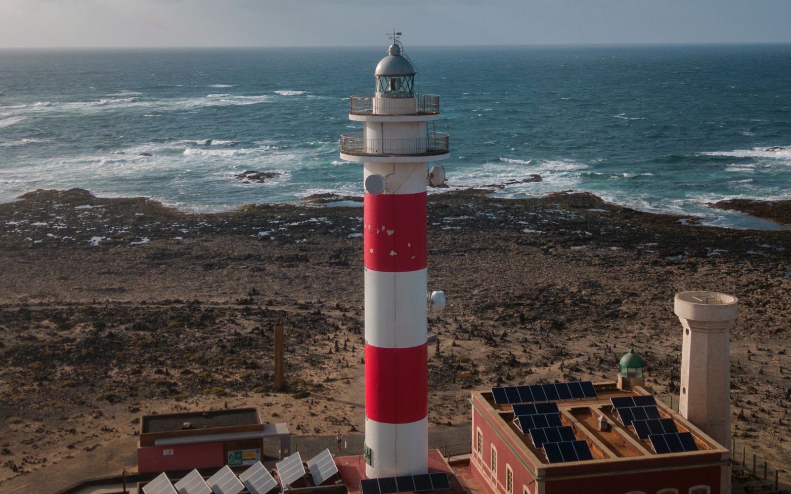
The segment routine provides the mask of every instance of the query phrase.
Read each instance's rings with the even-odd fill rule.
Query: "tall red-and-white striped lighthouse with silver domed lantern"
[[[363,164],[369,478],[428,472],[426,183],[445,174],[435,166],[427,177],[427,164],[448,156],[448,134],[433,131],[439,96],[418,95],[399,35],[374,71],[373,96],[350,97],[349,119],[363,130],[340,139],[341,159]]]

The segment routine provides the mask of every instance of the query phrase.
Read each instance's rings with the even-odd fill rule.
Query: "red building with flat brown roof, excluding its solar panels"
[[[611,398],[645,396],[645,388],[619,390],[616,383],[595,383],[596,398],[550,400],[561,425],[589,450],[590,458],[550,461],[550,451],[536,447],[514,406],[495,402],[493,391],[474,391],[470,469],[488,494],[725,494],[729,492],[729,451],[688,420],[657,402],[664,424],[675,424],[697,451],[658,448],[638,424],[628,424]],[[651,401],[651,398],[642,398]],[[627,398],[628,400],[628,398]],[[501,400],[498,400],[501,402]],[[657,419],[659,420],[659,419]],[[642,426],[642,424],[640,424]],[[569,432],[566,430],[566,432]],[[691,433],[691,436],[686,433]],[[536,434],[536,436],[538,436]],[[643,436],[641,439],[640,436]],[[569,438],[572,439],[572,438]],[[669,441],[668,441],[669,443]],[[554,448],[554,446],[553,446]],[[657,448],[660,450],[657,452]],[[585,456],[587,457],[587,453]],[[582,455],[580,455],[582,456]]]

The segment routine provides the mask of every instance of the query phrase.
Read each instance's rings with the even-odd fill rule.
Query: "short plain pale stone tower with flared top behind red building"
[[[683,326],[679,413],[731,447],[729,332],[739,312],[735,296],[717,292],[676,294]]]

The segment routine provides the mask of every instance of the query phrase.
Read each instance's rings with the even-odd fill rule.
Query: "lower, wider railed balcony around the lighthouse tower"
[[[366,139],[362,132],[341,136],[341,153],[354,156],[436,156],[448,153],[448,134],[429,132],[425,138]]]

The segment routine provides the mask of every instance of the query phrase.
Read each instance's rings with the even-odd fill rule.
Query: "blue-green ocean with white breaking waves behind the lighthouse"
[[[539,174],[494,195],[585,190],[733,228],[776,225],[706,203],[791,199],[791,45],[404,42],[419,92],[441,96],[452,188]],[[385,52],[0,51],[0,202],[70,187],[190,211],[360,195],[338,138],[360,129],[348,97],[373,92]],[[235,177],[248,170],[282,175]]]

